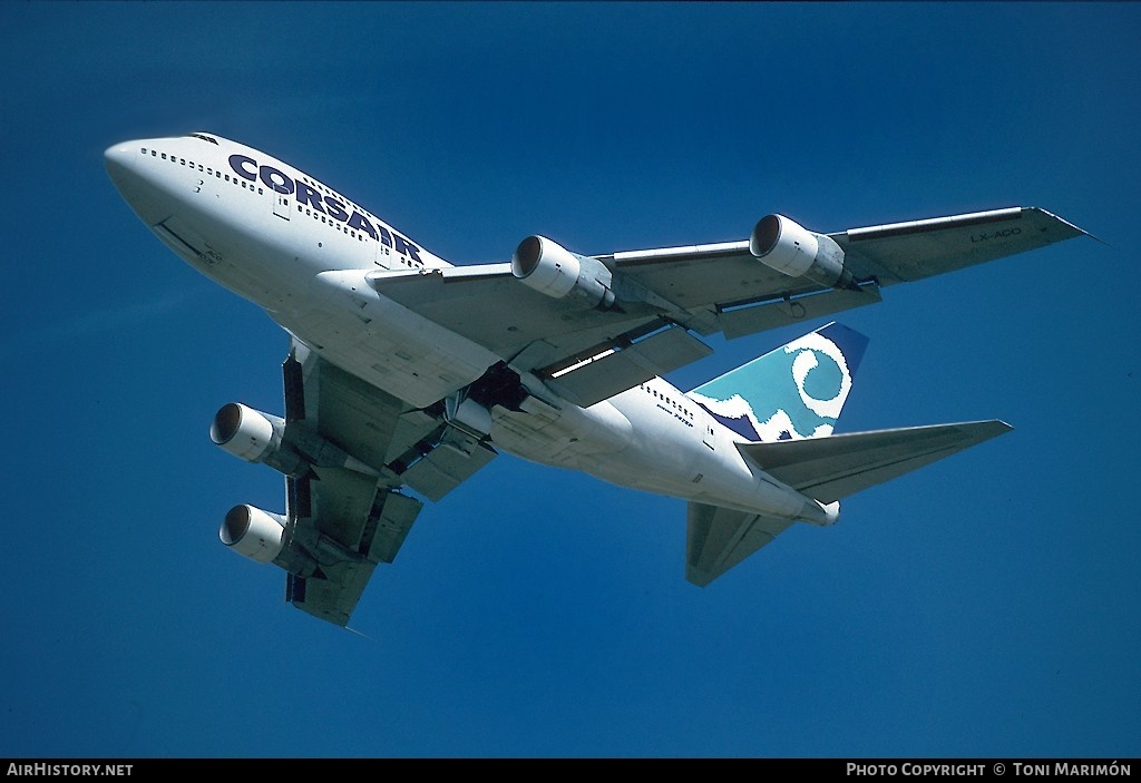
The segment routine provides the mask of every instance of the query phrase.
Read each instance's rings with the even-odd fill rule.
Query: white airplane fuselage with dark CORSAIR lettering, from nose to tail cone
[[[500,357],[370,287],[365,275],[452,264],[296,168],[213,134],[129,141],[112,179],[172,251],[258,304],[330,362],[418,408]],[[737,435],[662,378],[590,406],[559,398],[492,411],[492,443],[537,463],[710,505],[827,523],[834,517],[750,464]]]

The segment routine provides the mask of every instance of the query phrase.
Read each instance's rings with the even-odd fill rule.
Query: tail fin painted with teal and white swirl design
[[[866,348],[864,335],[828,324],[688,397],[748,441],[831,435]]]

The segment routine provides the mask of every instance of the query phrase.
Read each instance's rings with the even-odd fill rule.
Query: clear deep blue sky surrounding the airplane
[[[3,3],[0,756],[1141,755],[1134,3]],[[705,589],[685,505],[511,457],[357,636],[227,552],[209,440],[288,340],[107,179],[207,130],[455,263],[1011,205],[1081,238],[884,292],[837,431],[1014,431]],[[815,324],[814,326],[817,326]],[[691,388],[799,336],[717,342]]]

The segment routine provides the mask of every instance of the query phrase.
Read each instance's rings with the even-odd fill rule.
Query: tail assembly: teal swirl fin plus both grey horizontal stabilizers
[[[686,579],[704,587],[794,521],[833,524],[841,498],[1010,430],[990,421],[832,434],[866,348],[828,324],[689,392],[753,470],[814,503],[790,516],[690,500]]]

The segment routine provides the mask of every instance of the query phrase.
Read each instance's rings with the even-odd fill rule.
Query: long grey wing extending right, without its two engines
[[[826,235],[853,278],[841,288],[767,266],[747,239],[590,256],[613,276],[605,309],[528,287],[510,263],[377,271],[369,282],[585,406],[706,356],[699,336],[731,339],[872,304],[883,286],[1083,234],[1036,207],[848,229]]]

